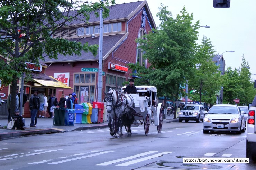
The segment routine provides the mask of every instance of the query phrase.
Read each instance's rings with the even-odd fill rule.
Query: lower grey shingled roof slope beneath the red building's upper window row
[[[128,34],[128,33],[127,33]],[[110,35],[110,36],[103,36],[103,46],[102,46],[102,56],[103,60],[107,57],[105,55],[109,52],[111,52],[111,49],[115,47],[120,40],[125,38],[127,34],[117,34],[117,35]],[[88,42],[88,45],[98,44],[99,45],[99,37],[91,38],[91,37],[83,37],[83,38],[75,38],[75,39],[69,39],[70,41],[76,41],[81,42],[82,44]],[[48,56],[44,56],[45,61],[44,63],[53,63],[53,62],[76,62],[76,61],[96,61],[99,59],[99,57],[94,57],[91,52],[84,52],[81,51],[82,55],[81,57],[77,55],[73,56],[63,56],[61,54],[58,55],[58,60],[55,59],[49,59]],[[97,54],[99,54],[99,51],[97,51]]]

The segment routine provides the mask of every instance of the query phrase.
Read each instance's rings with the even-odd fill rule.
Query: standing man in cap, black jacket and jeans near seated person
[[[37,123],[37,111],[40,108],[40,99],[37,97],[37,90],[33,90],[33,95],[29,98],[29,109],[31,113],[30,127],[36,127]]]

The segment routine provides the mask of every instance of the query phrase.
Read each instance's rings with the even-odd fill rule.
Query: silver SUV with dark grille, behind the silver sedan
[[[196,123],[199,123],[200,120],[203,122],[204,117],[204,107],[201,104],[186,104],[182,110],[179,112],[179,122],[183,120],[189,122],[189,120],[195,120]]]

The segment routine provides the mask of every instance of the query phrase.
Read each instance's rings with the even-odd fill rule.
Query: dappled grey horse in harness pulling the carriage
[[[122,126],[127,126],[127,136],[131,136],[131,124],[134,121],[133,113],[134,100],[129,94],[123,94],[117,90],[110,90],[105,93],[104,102],[106,102],[106,110],[109,113],[108,126],[110,134],[119,138],[123,135]],[[120,127],[120,131],[119,131]]]

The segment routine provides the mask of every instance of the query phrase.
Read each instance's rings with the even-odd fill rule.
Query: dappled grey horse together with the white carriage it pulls
[[[157,104],[157,89],[154,86],[136,86],[137,93],[124,94],[125,87],[110,90],[106,94],[106,110],[109,113],[110,134],[116,138],[122,136],[122,126],[125,126],[128,136],[131,135],[131,124],[143,125],[148,135],[149,126],[157,126],[158,133],[162,131],[162,104]],[[120,131],[119,131],[120,127]]]

